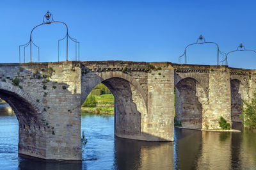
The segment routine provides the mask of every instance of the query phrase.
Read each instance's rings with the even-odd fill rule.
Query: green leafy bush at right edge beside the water
[[[243,101],[243,104],[242,114],[239,116],[244,127],[256,128],[256,92],[253,93],[251,102]]]

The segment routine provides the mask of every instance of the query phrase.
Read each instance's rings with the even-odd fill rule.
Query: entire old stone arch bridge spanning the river
[[[187,128],[219,128],[220,116],[241,121],[242,100],[252,97],[255,75],[255,70],[168,62],[0,64],[0,97],[19,121],[19,154],[81,160],[81,104],[100,82],[115,97],[116,136],[173,141],[175,107]]]

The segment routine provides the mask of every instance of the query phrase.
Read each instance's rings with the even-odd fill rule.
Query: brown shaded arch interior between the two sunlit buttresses
[[[186,128],[202,128],[204,91],[193,78],[185,78],[176,85],[176,118]]]

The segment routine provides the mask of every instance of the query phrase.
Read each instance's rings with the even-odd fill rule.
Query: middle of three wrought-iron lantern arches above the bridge
[[[217,65],[219,65],[219,54],[221,54],[223,56],[225,53],[220,51],[219,45],[217,43],[215,43],[215,42],[205,42],[205,38],[202,35],[200,35],[197,38],[196,43],[191,43],[191,44],[186,46],[186,48],[184,50],[184,53],[182,54],[182,56],[185,56],[185,64],[187,64],[187,52],[186,52],[186,50],[188,49],[188,47],[191,46],[191,45],[203,44],[203,43],[212,43],[212,44],[216,45],[216,47],[217,47]],[[179,56],[179,64],[180,64],[180,59],[182,58],[182,56]]]

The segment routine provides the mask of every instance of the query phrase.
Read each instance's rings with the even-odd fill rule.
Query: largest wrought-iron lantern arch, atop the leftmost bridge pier
[[[47,11],[47,13],[45,13],[44,17],[43,17],[43,22],[42,24],[39,24],[35,27],[33,27],[33,29],[31,30],[31,33],[30,33],[30,39],[29,39],[29,42],[24,44],[24,45],[20,45],[19,46],[19,62],[20,62],[20,47],[23,47],[23,58],[24,58],[24,63],[25,63],[25,50],[26,50],[26,47],[28,47],[28,45],[30,45],[30,62],[32,62],[32,44],[35,45],[35,43],[33,42],[32,40],[32,33],[34,31],[34,29],[36,27],[39,27],[39,26],[42,26],[44,24],[51,24],[51,23],[61,23],[61,24],[64,24],[65,27],[67,28],[67,34],[64,36],[64,38],[58,40],[58,62],[60,61],[60,41],[61,40],[64,40],[65,38],[67,39],[67,61],[68,61],[68,38],[70,38],[70,40],[72,40],[73,42],[76,43],[76,60],[77,60],[77,44],[78,44],[78,60],[80,60],[80,56],[79,56],[79,48],[80,48],[80,42],[77,42],[77,39],[76,38],[72,38],[69,34],[68,34],[68,26],[67,24],[65,24],[65,22],[62,22],[62,21],[55,21],[53,19],[53,15],[52,13],[50,13],[49,11]],[[35,45],[35,47],[38,49],[38,62],[40,61],[40,48]]]

